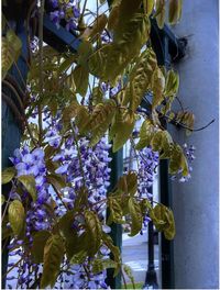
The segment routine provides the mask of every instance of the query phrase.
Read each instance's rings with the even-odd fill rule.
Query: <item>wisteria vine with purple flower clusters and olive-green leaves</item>
[[[21,148],[10,156],[13,166],[2,175],[3,183],[11,182],[2,200],[3,239],[10,237],[10,255],[20,257],[8,274],[18,267],[21,288],[108,288],[106,269],[117,275],[122,265],[108,235],[111,223],[123,224],[129,215],[134,236],[151,219],[166,238],[175,236],[172,210],[154,207],[148,189],[158,159],[169,159],[170,175],[189,177],[187,157],[194,159],[194,148],[185,155],[162,120],[188,134],[194,114],[172,109],[178,75],[157,65],[150,45],[150,20],[163,27],[165,1],[114,0],[103,13],[99,7],[97,13],[89,12],[87,1],[82,7],[81,1],[48,2],[51,21],[57,29],[74,30],[81,43],[77,54],[57,53],[43,45],[40,25],[28,77],[29,121]],[[180,2],[169,0],[172,24],[180,18]],[[41,24],[44,1],[36,8]],[[87,15],[95,18],[91,23]],[[2,42],[6,77],[21,42],[11,29]],[[8,47],[13,54],[6,53]],[[151,107],[140,111],[146,94]],[[128,141],[138,170],[124,172],[107,194],[109,150],[118,152]],[[8,280],[13,278],[8,275]]]

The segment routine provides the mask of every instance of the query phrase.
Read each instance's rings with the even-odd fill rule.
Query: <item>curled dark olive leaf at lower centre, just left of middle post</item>
[[[101,245],[101,224],[97,214],[92,211],[85,211],[86,230],[89,237],[88,255],[94,257]]]

